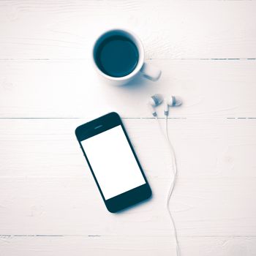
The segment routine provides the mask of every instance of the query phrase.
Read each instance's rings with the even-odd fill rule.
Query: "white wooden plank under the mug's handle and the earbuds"
[[[180,95],[172,117],[256,118],[255,61],[152,60],[157,83],[138,78],[115,87],[99,80],[91,61],[0,61],[1,117],[151,117],[148,98]],[[157,108],[163,116],[163,108]]]

